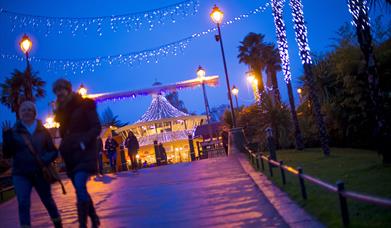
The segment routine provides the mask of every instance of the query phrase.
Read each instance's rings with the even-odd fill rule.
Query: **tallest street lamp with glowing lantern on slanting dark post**
[[[210,17],[212,18],[212,21],[217,25],[217,30],[219,33],[218,35],[215,36],[215,38],[216,38],[216,41],[220,41],[221,54],[223,56],[223,63],[224,63],[225,80],[227,82],[228,99],[229,99],[229,105],[231,108],[232,128],[236,128],[236,118],[235,118],[234,108],[232,105],[232,96],[231,96],[231,91],[230,91],[231,86],[229,85],[227,63],[225,61],[223,39],[221,36],[221,30],[220,30],[220,24],[223,21],[224,13],[215,5],[212,9]]]

